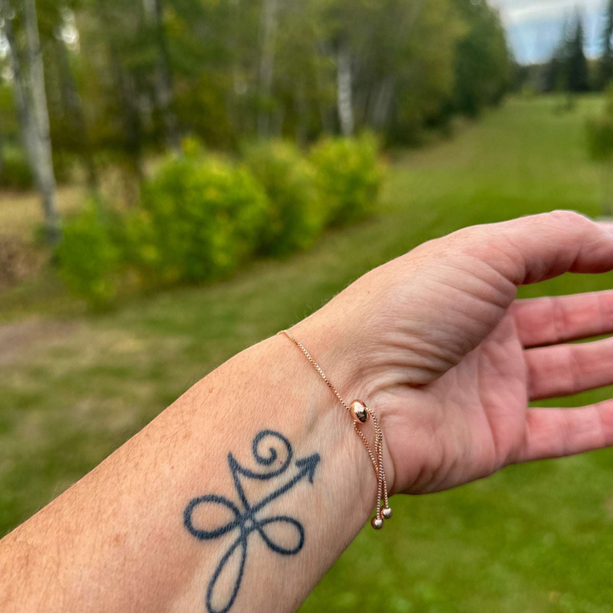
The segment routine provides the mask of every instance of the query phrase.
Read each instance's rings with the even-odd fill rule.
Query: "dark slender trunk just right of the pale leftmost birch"
[[[87,173],[89,188],[95,191],[98,185],[96,164],[94,162],[91,143],[89,142],[85,113],[83,113],[83,105],[81,97],[78,94],[77,84],[72,77],[72,70],[70,70],[66,43],[58,36],[55,37],[55,50],[62,102],[77,132],[78,150],[81,154],[83,167]]]

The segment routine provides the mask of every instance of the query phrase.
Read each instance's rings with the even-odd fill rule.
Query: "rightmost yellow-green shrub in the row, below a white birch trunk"
[[[339,225],[373,213],[383,180],[375,137],[325,138],[310,156],[326,223]]]

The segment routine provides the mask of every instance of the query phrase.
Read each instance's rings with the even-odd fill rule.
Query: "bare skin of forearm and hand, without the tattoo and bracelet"
[[[613,444],[612,401],[528,408],[613,383],[612,340],[568,344],[613,332],[613,292],[516,300],[520,284],[612,269],[613,230],[575,213],[473,227],[376,268],[292,332],[346,400],[376,409],[390,489],[435,492]],[[232,538],[194,538],[183,510],[209,493],[236,499],[227,454],[253,467],[251,441],[264,428],[286,436],[296,458],[321,462],[312,484],[303,479],[268,513],[303,525],[302,550],[279,555],[250,536],[230,611],[294,611],[368,520],[375,477],[348,414],[281,336],[202,379],[2,539],[0,609],[206,611]],[[372,440],[371,424],[364,432]],[[270,485],[249,483],[249,496]],[[208,511],[194,522],[227,522]],[[221,577],[221,600],[234,578]]]

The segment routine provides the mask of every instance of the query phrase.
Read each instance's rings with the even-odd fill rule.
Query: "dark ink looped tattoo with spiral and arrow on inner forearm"
[[[273,463],[278,458],[277,451],[274,447],[268,447],[268,454],[261,455],[259,452],[259,444],[262,440],[268,437],[277,438],[283,446],[285,447],[285,451],[287,452],[287,457],[284,462],[281,464],[279,468],[273,468]],[[197,539],[202,541],[208,541],[210,539],[216,539],[220,536],[223,536],[233,530],[238,530],[237,538],[230,545],[229,549],[219,560],[219,564],[213,573],[210,581],[208,582],[207,587],[207,596],[206,596],[206,606],[209,613],[226,613],[229,611],[232,604],[236,600],[236,596],[238,593],[238,589],[240,588],[240,584],[243,579],[243,571],[245,569],[245,560],[247,557],[247,542],[249,539],[249,535],[251,533],[257,531],[259,535],[262,537],[262,540],[265,544],[267,544],[270,549],[273,550],[276,554],[281,555],[294,555],[297,554],[305,541],[305,530],[300,524],[299,521],[295,520],[293,517],[288,517],[285,515],[275,515],[270,517],[265,517],[262,519],[261,517],[257,517],[259,511],[262,511],[265,506],[280,497],[284,493],[289,492],[289,490],[294,487],[297,483],[302,481],[302,479],[307,478],[310,483],[313,483],[313,476],[315,473],[315,469],[319,463],[320,457],[319,454],[309,455],[308,457],[296,460],[294,462],[295,467],[297,468],[297,473],[292,476],[291,479],[286,481],[283,485],[278,487],[273,492],[266,495],[262,500],[256,502],[255,504],[249,503],[247,497],[245,495],[245,490],[241,484],[241,476],[247,479],[259,479],[261,481],[267,481],[268,479],[273,479],[275,477],[281,476],[281,474],[285,473],[285,471],[289,468],[292,462],[293,452],[292,446],[289,444],[287,438],[281,435],[279,432],[275,432],[274,430],[262,430],[257,433],[256,437],[253,439],[252,444],[253,457],[256,462],[261,466],[270,466],[269,471],[257,472],[253,470],[249,470],[249,468],[245,468],[245,466],[240,465],[238,461],[235,459],[234,455],[231,453],[228,454],[228,465],[230,468],[230,473],[232,474],[232,479],[234,479],[234,487],[236,488],[238,499],[240,501],[240,507],[238,504],[235,504],[231,500],[224,498],[223,496],[219,496],[217,494],[206,494],[204,496],[200,496],[199,498],[194,498],[191,500],[186,506],[185,511],[183,511],[183,524],[189,530],[189,532],[196,536]],[[221,525],[215,530],[202,530],[197,528],[192,523],[192,513],[197,506],[205,503],[213,503],[213,504],[221,504],[225,506],[227,509],[230,509],[234,519],[231,519],[227,524]],[[289,524],[290,526],[295,528],[297,543],[294,547],[287,549],[286,547],[280,546],[275,543],[270,536],[267,535],[265,528],[267,528],[271,524]],[[238,567],[237,579],[235,581],[234,587],[232,588],[232,593],[229,598],[227,598],[226,604],[221,609],[215,609],[213,607],[213,590],[215,590],[215,584],[221,575],[224,566],[234,554],[237,547],[241,547],[242,551],[240,553],[240,566]]]

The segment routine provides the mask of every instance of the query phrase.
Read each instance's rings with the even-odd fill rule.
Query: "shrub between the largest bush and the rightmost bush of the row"
[[[294,145],[281,141],[250,145],[245,163],[270,200],[261,252],[281,255],[310,246],[324,221],[311,165]]]

